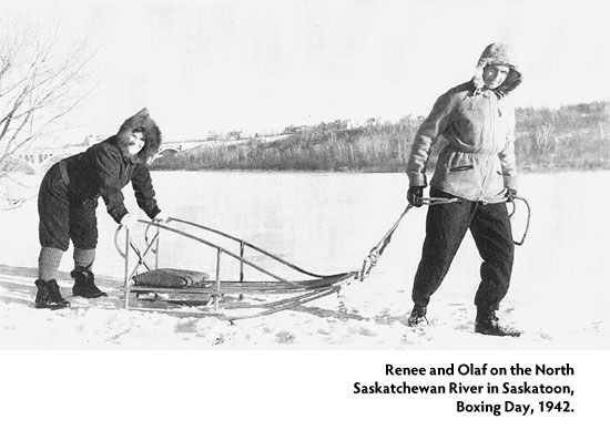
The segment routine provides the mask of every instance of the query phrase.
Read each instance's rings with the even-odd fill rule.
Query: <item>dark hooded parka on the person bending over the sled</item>
[[[128,151],[133,131],[144,133],[144,147],[135,155]],[[84,202],[102,197],[108,213],[119,223],[128,213],[122,188],[132,183],[138,205],[150,218],[161,211],[154,198],[154,190],[146,162],[161,145],[161,132],[144,109],[128,119],[119,133],[96,143],[85,152],[72,155],[64,163],[64,183],[71,201]],[[63,166],[62,166],[63,168]]]

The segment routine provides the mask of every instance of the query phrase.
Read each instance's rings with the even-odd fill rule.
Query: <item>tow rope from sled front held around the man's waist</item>
[[[428,206],[447,205],[447,204],[451,204],[451,203],[472,203],[472,202],[465,201],[464,198],[458,198],[458,197],[453,197],[453,198],[418,197],[418,199],[419,199],[419,202],[421,202],[421,204],[428,205]],[[528,234],[529,224],[530,224],[530,219],[531,219],[531,207],[529,206],[528,201],[526,201],[523,197],[515,196],[510,199],[505,198],[502,201],[495,202],[495,203],[511,203],[512,204],[512,211],[510,211],[510,214],[509,214],[509,217],[511,218],[512,215],[515,215],[515,213],[517,212],[517,205],[515,203],[516,199],[523,202],[525,205],[526,205],[527,212],[528,212],[527,221],[526,221],[526,228],[525,228],[523,235],[521,236],[521,239],[520,240],[512,239],[512,243],[515,245],[521,246],[521,245],[523,245],[523,243],[526,240],[526,236]],[[491,203],[481,202],[481,204],[486,205],[486,204],[491,204]],[[400,222],[403,221],[405,215],[413,207],[415,207],[415,206],[409,203],[407,205],[407,207],[405,208],[405,211],[400,214],[400,216],[398,217],[396,223],[394,223],[392,228],[384,235],[384,237],[382,237],[379,243],[370,249],[368,256],[363,262],[363,267],[360,269],[360,275],[359,275],[360,281],[363,281],[365,278],[367,278],[368,275],[370,274],[370,270],[373,269],[373,267],[375,267],[377,265],[377,263],[379,262],[379,258],[382,257],[382,254],[384,254],[385,248],[388,246],[389,242],[392,240],[392,235],[394,234],[396,228],[398,228],[398,225],[400,224]]]

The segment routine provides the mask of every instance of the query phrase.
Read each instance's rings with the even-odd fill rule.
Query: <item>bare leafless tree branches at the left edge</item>
[[[0,209],[28,198],[14,192],[21,184],[14,175],[19,155],[65,129],[62,119],[85,93],[82,80],[91,55],[84,42],[62,47],[58,29],[42,37],[22,24],[0,22]]]

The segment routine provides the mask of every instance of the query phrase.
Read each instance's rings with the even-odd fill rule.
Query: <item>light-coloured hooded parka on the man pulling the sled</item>
[[[488,64],[508,65],[505,82],[486,89]],[[435,103],[414,139],[407,175],[411,186],[427,186],[426,167],[433,144],[444,137],[430,185],[471,202],[499,202],[505,188],[517,190],[515,109],[507,95],[521,82],[509,47],[485,49],[472,80],[455,86]]]

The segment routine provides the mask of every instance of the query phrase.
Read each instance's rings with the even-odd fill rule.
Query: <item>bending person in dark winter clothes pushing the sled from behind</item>
[[[128,119],[115,135],[55,163],[47,172],[38,194],[41,250],[35,280],[37,308],[70,306],[57,283],[61,257],[70,240],[74,247],[72,294],[87,298],[106,295],[95,285],[92,272],[98,245],[95,208],[100,196],[109,215],[130,228],[136,217],[125,208],[121,190],[131,182],[138,205],[146,215],[154,221],[167,221],[156,205],[146,165],[160,145],[161,132],[143,109]]]

